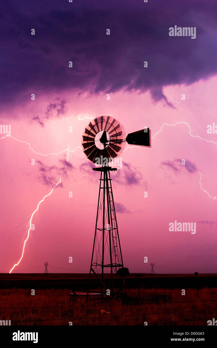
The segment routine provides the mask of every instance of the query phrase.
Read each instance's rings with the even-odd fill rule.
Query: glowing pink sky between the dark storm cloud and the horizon
[[[119,155],[123,167],[111,174],[124,266],[130,272],[150,272],[154,262],[156,273],[216,272],[217,134],[207,134],[207,125],[217,124],[216,85],[217,77],[212,77],[189,86],[165,87],[163,93],[174,108],[164,100],[154,102],[149,92],[124,90],[111,93],[110,100],[106,93],[78,96],[69,90],[36,95],[34,101],[29,101],[28,95],[28,102],[23,97],[17,105],[6,106],[1,124],[11,125],[11,137],[0,141],[0,272],[9,272],[20,259],[32,212],[60,180],[67,151],[45,155],[60,153],[68,145],[73,150],[69,152],[71,166],[62,176],[62,186],[54,189],[34,215],[35,230],[30,232],[23,259],[13,272],[44,272],[45,261],[65,268],[48,266],[49,272],[89,271],[99,173],[93,172],[83,153],[82,134],[90,118],[108,114],[123,122],[126,134],[147,126],[153,138],[150,149],[126,144]],[[186,100],[180,102],[183,93]],[[62,100],[64,110],[58,116]],[[50,103],[57,105],[53,111],[47,111]],[[37,116],[44,127],[32,120]],[[188,123],[192,135],[212,142],[189,135],[184,123],[163,126],[180,121]],[[29,143],[42,155],[12,137]],[[32,159],[35,165],[31,165]],[[180,159],[188,165],[181,166]],[[199,169],[202,179],[191,164]],[[209,195],[200,188],[200,179]],[[169,232],[169,223],[175,220],[196,222],[196,234]],[[144,263],[145,256],[148,263]]]

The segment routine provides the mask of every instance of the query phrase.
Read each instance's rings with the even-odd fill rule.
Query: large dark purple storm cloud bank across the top
[[[163,86],[191,84],[217,72],[214,0],[38,0],[37,6],[10,0],[1,6],[4,103],[21,92],[28,100],[29,90],[111,93],[124,88],[150,90],[155,101],[172,106]],[[174,25],[196,27],[196,38],[169,37]],[[58,113],[51,103],[48,117],[54,109]]]

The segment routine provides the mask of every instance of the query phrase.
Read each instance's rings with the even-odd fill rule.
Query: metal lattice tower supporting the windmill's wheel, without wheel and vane
[[[100,171],[101,176],[90,277],[94,274],[100,280],[102,289],[108,288],[105,282],[109,283],[111,294],[115,294],[124,288],[124,278],[122,278],[122,286],[119,285],[120,288],[118,288],[118,281],[116,281],[116,290],[114,288],[114,278],[119,279],[117,270],[123,268],[110,178],[110,171],[115,171],[117,168],[105,165],[93,170]]]

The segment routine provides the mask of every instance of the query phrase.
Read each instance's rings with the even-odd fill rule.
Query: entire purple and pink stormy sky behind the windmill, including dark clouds
[[[83,153],[82,134],[91,119],[111,115],[126,134],[152,132],[152,148],[125,145],[122,168],[112,173],[124,266],[216,272],[217,134],[207,134],[217,125],[216,2],[1,6],[1,125],[11,125],[11,137],[0,141],[0,271],[20,259],[26,226],[49,195],[13,272],[43,271],[44,261],[60,272],[88,272],[99,173]],[[196,38],[170,37],[175,25],[196,27]],[[196,222],[196,234],[170,232],[175,220]]]

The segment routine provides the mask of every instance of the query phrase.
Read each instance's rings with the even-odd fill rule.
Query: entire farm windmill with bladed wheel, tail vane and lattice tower
[[[109,290],[112,296],[125,288],[124,277],[117,275],[118,269],[123,268],[123,259],[110,178],[110,172],[117,168],[109,166],[123,142],[150,147],[149,128],[130,133],[124,139],[117,120],[100,116],[85,128],[82,143],[87,158],[101,165],[93,168],[100,172],[100,188],[89,280],[94,275],[101,284],[101,293]]]

